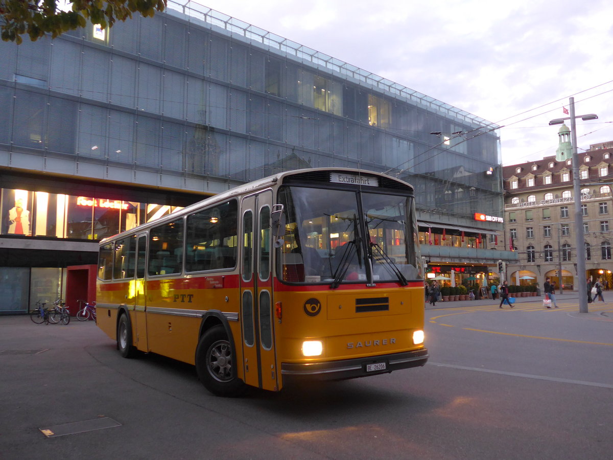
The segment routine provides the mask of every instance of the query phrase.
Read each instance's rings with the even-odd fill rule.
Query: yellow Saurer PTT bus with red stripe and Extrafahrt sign
[[[428,359],[420,261],[408,183],[281,172],[102,240],[97,324],[219,396],[378,375]]]

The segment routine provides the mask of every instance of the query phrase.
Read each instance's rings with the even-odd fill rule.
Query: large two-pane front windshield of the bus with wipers
[[[411,197],[285,186],[278,198],[286,212],[284,281],[336,287],[417,278]]]

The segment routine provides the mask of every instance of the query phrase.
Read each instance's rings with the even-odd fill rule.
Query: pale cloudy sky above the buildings
[[[607,0],[197,0],[501,129],[503,164],[555,155],[575,99],[579,152],[613,140]]]

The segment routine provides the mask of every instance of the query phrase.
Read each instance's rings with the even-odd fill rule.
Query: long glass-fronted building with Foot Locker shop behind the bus
[[[500,258],[471,255],[489,251],[478,234],[502,234],[474,220],[503,207],[497,126],[195,2],[0,42],[0,104],[0,273],[31,278],[24,286],[33,268],[95,263],[101,237],[301,167],[403,178],[425,245],[427,231],[474,233],[472,246],[462,237],[446,253],[441,239],[427,258]]]

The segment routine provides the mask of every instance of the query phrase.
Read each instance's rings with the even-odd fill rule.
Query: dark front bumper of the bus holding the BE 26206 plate
[[[287,380],[344,380],[424,366],[429,356],[428,350],[421,348],[416,351],[339,361],[282,362],[281,374],[284,382]]]

